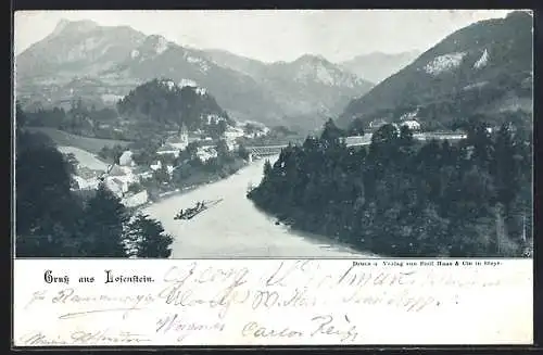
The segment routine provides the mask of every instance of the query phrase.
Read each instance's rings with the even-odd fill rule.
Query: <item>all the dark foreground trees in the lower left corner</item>
[[[17,257],[168,257],[161,224],[128,211],[103,185],[90,196],[71,190],[73,165],[43,135],[21,130],[17,107]]]

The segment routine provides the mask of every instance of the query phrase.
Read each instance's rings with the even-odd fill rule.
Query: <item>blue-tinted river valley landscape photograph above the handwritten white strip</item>
[[[531,11],[18,11],[13,43],[17,258],[532,257]]]

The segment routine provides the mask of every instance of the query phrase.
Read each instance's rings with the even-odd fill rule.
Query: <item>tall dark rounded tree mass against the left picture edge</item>
[[[70,190],[70,167],[62,153],[40,137],[17,137],[16,255],[76,256],[73,237],[81,208]]]

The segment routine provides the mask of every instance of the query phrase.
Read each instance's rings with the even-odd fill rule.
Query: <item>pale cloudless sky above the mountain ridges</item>
[[[60,20],[91,20],[162,35],[180,46],[223,49],[264,62],[303,54],[332,62],[371,52],[426,51],[473,22],[510,10],[191,10],[21,11],[15,13],[14,52],[53,31]]]

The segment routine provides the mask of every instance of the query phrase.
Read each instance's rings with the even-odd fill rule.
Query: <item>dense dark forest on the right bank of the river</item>
[[[248,198],[293,228],[382,256],[519,256],[531,243],[531,132],[460,126],[465,140],[422,143],[384,125],[366,149],[344,145],[329,121],[266,162]]]

